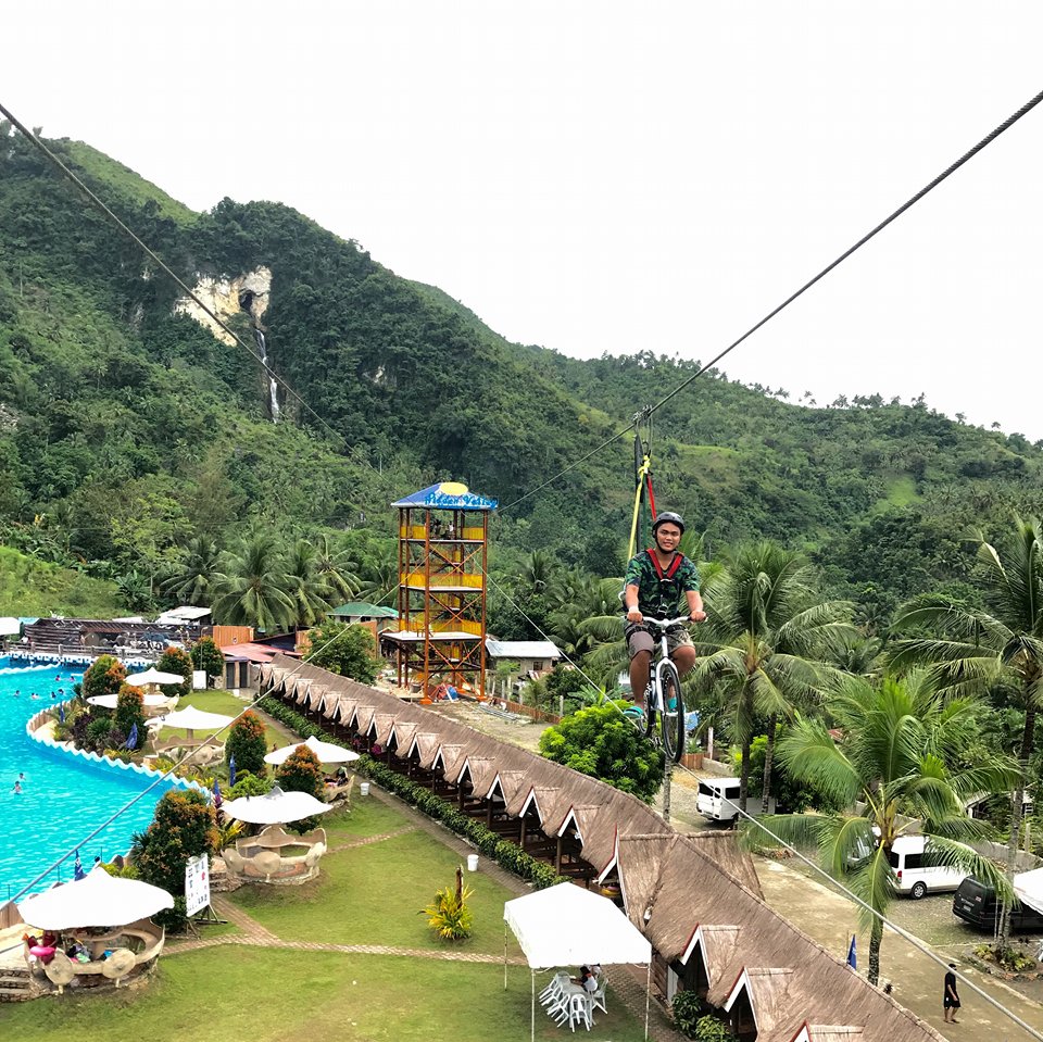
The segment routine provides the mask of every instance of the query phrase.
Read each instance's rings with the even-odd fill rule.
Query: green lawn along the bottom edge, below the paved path
[[[618,972],[618,971],[617,971]],[[537,978],[537,989],[548,979]],[[529,971],[498,964],[221,946],[160,961],[144,988],[3,1007],[18,1042],[147,1039],[148,1042],[524,1042]],[[644,1026],[613,999],[589,1042],[639,1042]],[[571,1037],[537,1006],[536,1037]]]

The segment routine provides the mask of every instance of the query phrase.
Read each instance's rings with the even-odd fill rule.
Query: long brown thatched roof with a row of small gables
[[[497,742],[424,706],[279,656],[261,668],[276,694],[322,689],[322,712],[367,732],[376,720],[400,756],[450,782],[469,777],[479,796],[502,794],[518,817],[535,809],[548,834],[574,825],[581,856],[602,877],[615,867],[627,915],[667,962],[701,959],[708,1000],[749,1000],[757,1042],[927,1042],[929,1025],[871,988],[840,958],[805,937],[763,901],[750,857],[732,833],[675,832],[634,796]],[[744,997],[743,997],[744,996]]]

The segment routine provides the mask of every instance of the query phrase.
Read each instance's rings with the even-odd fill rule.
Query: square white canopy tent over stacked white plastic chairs
[[[652,944],[612,901],[573,883],[558,883],[507,901],[503,906],[503,987],[506,990],[506,927],[511,927],[525,953],[532,978],[533,1039],[538,969],[620,963],[638,963],[649,967],[644,1013],[644,1037],[649,1037],[648,992],[651,989]]]

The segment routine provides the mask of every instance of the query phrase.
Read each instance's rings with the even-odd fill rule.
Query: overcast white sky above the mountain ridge
[[[0,99],[45,136],[578,356],[713,356],[1043,89],[1034,0],[18,8]],[[1043,438],[1041,159],[1043,104],[724,369]]]

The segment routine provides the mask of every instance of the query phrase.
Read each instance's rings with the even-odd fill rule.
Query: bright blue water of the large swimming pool
[[[73,682],[80,679],[83,668],[25,667],[18,660],[0,656],[0,903],[150,784],[146,775],[88,762],[26,735],[29,717],[73,696]],[[63,694],[58,693],[60,688]],[[33,699],[34,694],[38,698]],[[14,782],[23,771],[26,780],[17,794]],[[96,855],[111,861],[126,853],[133,834],[148,827],[155,804],[171,788],[171,782],[161,782],[103,832],[83,843],[84,867],[89,869]],[[72,875],[70,858],[34,889],[46,889]]]

